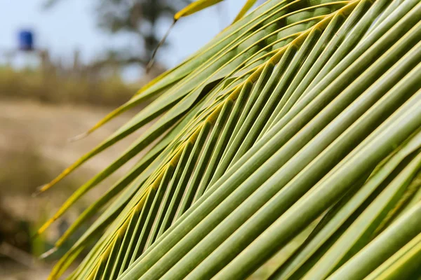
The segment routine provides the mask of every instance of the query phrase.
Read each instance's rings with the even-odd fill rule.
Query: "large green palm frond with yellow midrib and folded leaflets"
[[[152,123],[39,230],[147,151],[58,240],[98,215],[51,279],[86,248],[69,279],[246,279],[268,261],[269,279],[415,279],[420,19],[418,0],[269,0],[240,16],[41,189]]]

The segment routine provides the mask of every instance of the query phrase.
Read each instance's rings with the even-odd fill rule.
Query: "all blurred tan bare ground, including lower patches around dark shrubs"
[[[123,116],[112,120],[109,124],[102,127],[97,132],[94,132],[85,139],[69,143],[68,139],[74,137],[82,132],[88,130],[95,125],[102,117],[109,113],[111,109],[92,108],[86,106],[55,106],[48,104],[38,104],[26,101],[11,101],[0,99],[0,173],[8,165],[9,160],[2,155],[14,153],[21,153],[31,146],[36,149],[41,158],[47,165],[54,167],[55,172],[67,167],[77,160],[84,153],[91,151],[102,140],[106,139],[112,132],[119,128],[123,123],[126,123],[135,112],[126,113]],[[135,110],[136,111],[136,110]],[[116,157],[123,152],[143,130],[136,132],[121,142],[107,149],[97,157],[86,162],[83,167],[74,172],[71,178],[77,181],[86,181],[94,174],[100,172],[107,167]],[[23,153],[25,155],[25,153]],[[140,155],[141,156],[141,155]],[[139,158],[139,157],[138,157]],[[136,158],[135,160],[138,160]],[[114,178],[102,183],[102,186],[93,190],[85,197],[86,202],[91,202],[104,192],[104,188],[109,187],[110,183],[115,181],[125,169],[131,166],[133,161],[116,172]],[[25,176],[25,170],[22,170],[22,176]],[[48,180],[51,180],[50,178]],[[45,182],[47,183],[47,182]],[[30,186],[36,188],[37,186]],[[61,186],[62,187],[62,186]],[[60,188],[60,184],[55,188]],[[5,192],[3,192],[5,193]],[[7,192],[6,192],[7,193]],[[54,207],[57,208],[62,200],[46,193],[41,200],[32,199],[28,197],[0,197],[0,203],[7,209],[21,218],[35,213],[36,207],[41,207],[43,201],[53,201]],[[53,197],[52,197],[53,196]],[[41,202],[41,203],[40,203]],[[33,207],[36,204],[36,207]],[[54,209],[50,209],[52,212]],[[48,212],[50,212],[48,211]],[[52,213],[51,213],[52,214]],[[75,217],[74,217],[75,218]],[[49,265],[37,266],[36,269],[18,265],[15,262],[6,261],[1,262],[0,253],[0,279],[20,280],[20,279],[46,279]]]

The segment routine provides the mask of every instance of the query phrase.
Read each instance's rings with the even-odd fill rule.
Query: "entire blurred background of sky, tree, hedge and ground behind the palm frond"
[[[141,132],[90,160],[48,193],[32,193],[142,106],[86,139],[67,139],[88,130],[148,80],[207,43],[232,22],[243,1],[226,0],[180,20],[146,74],[145,65],[173,14],[187,3],[0,0],[0,279],[46,279],[63,252],[47,260],[37,256],[125,169],[88,193],[46,235],[31,236]]]

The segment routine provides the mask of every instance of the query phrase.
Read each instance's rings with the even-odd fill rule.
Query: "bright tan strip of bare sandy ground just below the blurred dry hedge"
[[[27,144],[28,139],[41,149],[42,155],[59,165],[67,166],[90,151],[100,141],[126,123],[132,112],[115,118],[105,127],[75,142],[68,140],[86,132],[111,109],[85,106],[54,106],[34,102],[0,100],[0,149],[16,150]],[[139,133],[123,139],[98,157],[86,162],[84,169],[94,172],[107,167]]]

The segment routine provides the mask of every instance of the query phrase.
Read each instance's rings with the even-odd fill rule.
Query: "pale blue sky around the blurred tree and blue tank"
[[[35,31],[40,48],[48,48],[53,57],[64,60],[70,59],[76,48],[81,50],[82,59],[88,61],[110,46],[126,45],[131,40],[127,36],[109,36],[96,27],[93,10],[100,0],[63,0],[47,11],[41,8],[44,1],[0,0],[0,51],[15,48],[18,30],[26,28]],[[219,8],[211,7],[180,20],[168,37],[170,47],[159,52],[161,62],[175,66],[207,43],[234,18],[241,7],[239,1],[242,4],[244,0],[227,0]],[[162,34],[170,24],[170,20],[162,22]]]

